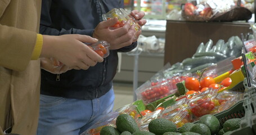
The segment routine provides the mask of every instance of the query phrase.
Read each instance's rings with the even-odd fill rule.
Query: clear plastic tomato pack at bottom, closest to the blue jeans
[[[87,131],[83,132],[80,135],[100,135],[100,131],[103,127],[108,125],[116,127],[115,120],[118,117],[118,115],[118,112],[102,115],[102,119],[100,119],[97,123],[93,124],[91,127],[87,129]]]

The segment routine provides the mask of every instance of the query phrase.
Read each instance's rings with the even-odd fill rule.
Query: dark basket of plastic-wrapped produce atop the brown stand
[[[234,0],[188,1],[182,7],[182,16],[188,21],[236,21],[251,18],[252,4]]]

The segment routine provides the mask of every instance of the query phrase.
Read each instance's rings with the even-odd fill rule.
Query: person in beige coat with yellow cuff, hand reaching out
[[[86,35],[37,34],[40,13],[39,0],[0,1],[1,135],[36,132],[41,79],[39,57],[56,57],[74,69],[88,69],[103,61],[82,43],[95,43],[97,39]]]

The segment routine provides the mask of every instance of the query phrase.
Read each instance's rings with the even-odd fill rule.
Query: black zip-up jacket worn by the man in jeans
[[[119,7],[123,8],[122,0],[43,0],[40,33],[92,37],[102,14]],[[136,46],[137,42],[111,50],[104,62],[88,70],[69,70],[60,75],[42,70],[41,94],[84,100],[101,97],[112,87],[118,65],[117,52],[128,52]]]

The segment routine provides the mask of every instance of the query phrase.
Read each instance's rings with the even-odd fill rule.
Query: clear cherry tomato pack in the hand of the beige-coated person
[[[86,43],[87,46],[89,46],[93,51],[95,51],[96,53],[98,53],[98,55],[100,55],[101,57],[105,58],[107,56],[109,56],[109,47],[110,44],[107,43],[104,40],[100,40],[96,43]]]

